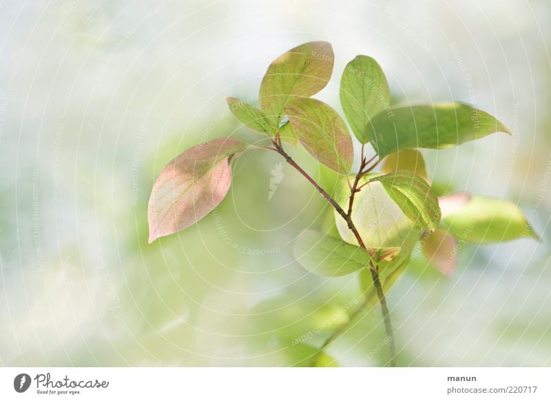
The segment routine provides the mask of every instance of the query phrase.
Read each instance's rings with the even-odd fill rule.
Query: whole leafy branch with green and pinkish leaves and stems
[[[306,230],[295,241],[295,258],[320,276],[369,271],[373,291],[313,355],[313,364],[371,298],[379,301],[389,338],[388,365],[396,366],[395,337],[385,289],[408,264],[420,243],[428,263],[451,276],[457,239],[496,243],[521,237],[539,238],[519,207],[506,200],[466,193],[437,198],[419,148],[442,149],[475,141],[508,128],[490,114],[464,103],[391,107],[390,90],[380,65],[369,56],[350,61],[340,81],[340,103],[346,122],[333,108],[311,96],[333,73],[329,43],[304,43],[280,55],[260,84],[260,108],[227,97],[243,125],[270,138],[277,152],[331,204],[340,238]],[[352,133],[362,145],[360,168],[354,160]],[[333,194],[326,192],[284,150],[300,143],[319,163],[340,175]],[[364,156],[366,144],[375,155]],[[236,138],[218,138],[176,156],[158,176],[149,198],[149,243],[190,227],[225,198],[231,163],[251,147]],[[383,162],[383,163],[381,163]],[[380,172],[375,168],[381,165]],[[370,284],[371,285],[371,284]]]

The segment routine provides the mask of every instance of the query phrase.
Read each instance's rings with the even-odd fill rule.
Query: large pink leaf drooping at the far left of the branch
[[[218,138],[168,163],[149,198],[149,243],[193,225],[222,202],[231,183],[231,158],[248,146],[238,139]]]

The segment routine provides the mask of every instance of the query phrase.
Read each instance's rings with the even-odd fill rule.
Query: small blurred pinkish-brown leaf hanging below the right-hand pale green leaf
[[[457,264],[457,240],[444,229],[428,233],[421,241],[428,262],[446,276],[452,276]]]

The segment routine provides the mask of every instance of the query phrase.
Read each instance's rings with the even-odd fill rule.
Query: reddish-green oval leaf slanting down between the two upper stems
[[[295,99],[285,107],[296,137],[320,163],[348,174],[354,158],[352,138],[344,121],[322,101]]]

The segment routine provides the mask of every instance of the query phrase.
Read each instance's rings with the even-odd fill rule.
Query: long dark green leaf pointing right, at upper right
[[[464,103],[396,107],[377,114],[366,137],[379,157],[397,150],[443,149],[510,130],[486,112]]]

